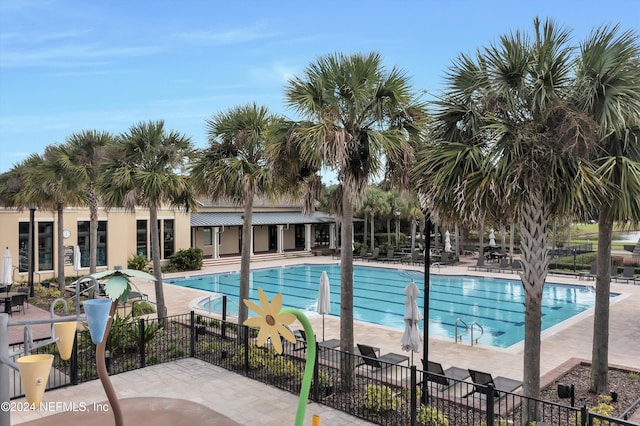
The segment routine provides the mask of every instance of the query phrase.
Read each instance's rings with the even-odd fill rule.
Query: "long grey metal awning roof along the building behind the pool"
[[[242,212],[202,212],[191,214],[191,226],[242,226]],[[253,225],[299,225],[306,223],[335,223],[333,216],[314,212],[306,216],[301,212],[254,212]]]

